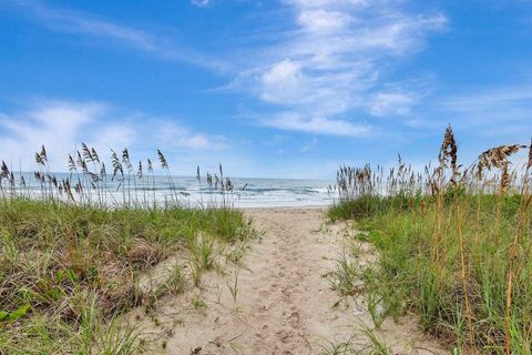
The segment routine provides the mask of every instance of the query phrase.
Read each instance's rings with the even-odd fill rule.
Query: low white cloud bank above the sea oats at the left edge
[[[65,170],[66,156],[82,142],[102,151],[125,146],[141,153],[157,148],[177,150],[221,150],[224,138],[208,136],[146,114],[129,115],[109,104],[42,100],[21,112],[0,113],[1,159],[34,166],[34,152],[44,144],[53,170]],[[120,122],[120,123],[119,123]],[[146,129],[150,128],[150,129]]]

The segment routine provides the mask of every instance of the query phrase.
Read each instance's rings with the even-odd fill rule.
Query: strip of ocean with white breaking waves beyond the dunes
[[[43,175],[48,175],[43,173]],[[16,189],[19,194],[39,199],[47,190],[47,194],[66,199],[60,189],[54,186],[51,179],[44,182],[37,180],[33,173],[22,173],[25,186],[21,186],[20,176],[16,175]],[[164,204],[177,199],[185,205],[219,205],[228,203],[235,207],[283,207],[283,206],[325,206],[330,204],[331,196],[327,187],[334,182],[325,180],[291,180],[291,179],[241,179],[232,178],[233,191],[222,193],[219,185],[215,189],[207,184],[205,179],[198,182],[195,178],[144,175],[143,179],[125,176],[122,181],[104,180],[93,181],[90,175],[69,173],[53,173],[58,186],[63,180],[70,179],[74,199],[105,203],[108,205],[130,204]],[[74,191],[74,185],[80,182],[82,191]],[[2,183],[6,193],[9,186],[6,180]],[[43,189],[44,187],[44,189]],[[64,190],[63,190],[64,191]]]

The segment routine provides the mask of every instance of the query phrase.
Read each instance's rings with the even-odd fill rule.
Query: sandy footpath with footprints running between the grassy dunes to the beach
[[[162,354],[320,354],[348,339],[368,346],[357,325],[371,325],[364,301],[340,305],[324,275],[334,268],[342,237],[325,229],[323,212],[249,210],[266,231],[238,271],[207,275],[201,291],[163,300],[155,315],[136,315]],[[237,276],[236,303],[229,291]],[[195,305],[195,306],[194,306]],[[443,353],[417,329],[415,322],[385,322],[379,336],[395,354]],[[428,349],[432,349],[429,352]]]

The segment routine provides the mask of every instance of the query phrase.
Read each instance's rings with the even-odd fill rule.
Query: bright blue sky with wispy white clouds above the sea
[[[0,0],[0,158],[81,142],[177,174],[331,178],[532,135],[532,2]]]

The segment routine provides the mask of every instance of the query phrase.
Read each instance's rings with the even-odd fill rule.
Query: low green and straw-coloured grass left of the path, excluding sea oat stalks
[[[135,354],[136,332],[121,327],[116,316],[184,287],[178,266],[156,292],[139,285],[142,273],[176,253],[183,264],[206,270],[224,246],[253,233],[241,212],[225,207],[105,209],[4,199],[0,354]]]

